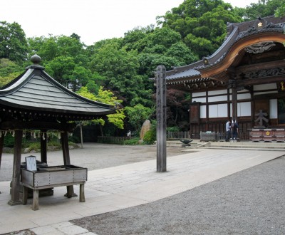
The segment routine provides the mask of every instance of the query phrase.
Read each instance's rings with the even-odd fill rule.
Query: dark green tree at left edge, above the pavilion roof
[[[26,35],[19,23],[0,21],[0,58],[22,63],[27,52]]]

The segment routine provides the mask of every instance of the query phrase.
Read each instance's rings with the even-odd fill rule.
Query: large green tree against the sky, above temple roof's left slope
[[[157,23],[180,33],[182,41],[199,58],[219,48],[227,33],[227,22],[241,22],[230,4],[222,0],[185,0],[157,18]]]

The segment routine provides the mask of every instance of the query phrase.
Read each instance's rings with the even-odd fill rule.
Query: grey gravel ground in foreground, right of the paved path
[[[95,234],[285,234],[285,157],[166,199],[71,221]]]

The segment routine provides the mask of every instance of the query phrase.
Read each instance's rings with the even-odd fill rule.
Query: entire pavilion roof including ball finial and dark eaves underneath
[[[73,93],[51,78],[37,63],[28,66],[0,90],[1,122],[7,120],[68,122],[92,120],[115,112],[112,105]]]

